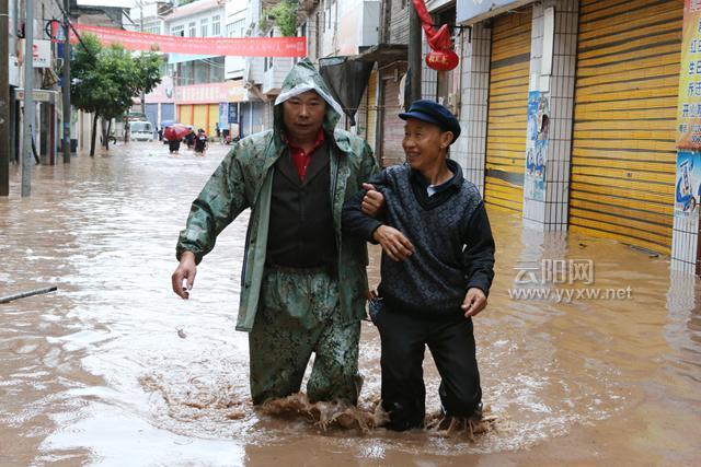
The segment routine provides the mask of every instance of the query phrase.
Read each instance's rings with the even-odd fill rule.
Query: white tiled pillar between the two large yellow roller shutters
[[[549,91],[540,90],[541,95],[550,98],[545,196],[542,201],[524,198],[524,221],[543,231],[566,231],[579,4],[576,0],[547,0],[533,4],[529,80],[529,90],[533,91],[540,87],[543,11],[549,7],[555,9],[552,75]]]

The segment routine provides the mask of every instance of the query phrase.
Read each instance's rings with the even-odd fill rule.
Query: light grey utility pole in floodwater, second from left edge
[[[32,194],[32,128],[34,126],[34,0],[25,2],[24,20],[24,144],[22,148],[22,197]]]

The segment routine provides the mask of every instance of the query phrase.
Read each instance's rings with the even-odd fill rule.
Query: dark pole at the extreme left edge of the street
[[[0,31],[10,31],[10,1],[0,0]],[[8,37],[9,39],[9,37]],[[0,40],[0,196],[10,195],[10,40]]]

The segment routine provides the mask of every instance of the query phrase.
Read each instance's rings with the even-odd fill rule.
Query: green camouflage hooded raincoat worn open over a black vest
[[[295,89],[314,90],[327,102],[331,98],[325,82],[307,59],[295,65],[283,83],[280,95]],[[364,240],[342,236],[341,212],[344,201],[355,195],[378,167],[365,140],[335,129],[341,118],[340,107],[332,98],[331,103],[326,106],[323,129],[327,137],[332,136],[327,141],[331,143],[330,194],[338,250],[337,281],[343,320],[352,323],[365,315],[368,256]],[[242,139],[225,156],[193,202],[187,226],[181,232],[176,247],[179,259],[183,252],[189,250],[199,264],[214,248],[217,235],[243,210],[251,208],[237,320],[237,329],[242,331],[253,328],[258,307],[268,238],[273,165],[286,150],[281,139],[281,103],[275,106],[273,130]]]

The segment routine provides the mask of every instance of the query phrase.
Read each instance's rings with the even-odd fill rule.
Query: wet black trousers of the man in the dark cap
[[[382,342],[382,408],[389,413],[390,430],[424,425],[426,346],[440,374],[438,389],[445,415],[470,417],[482,406],[480,372],[475,358],[472,319],[420,317],[389,310],[376,317]]]

